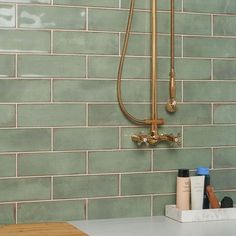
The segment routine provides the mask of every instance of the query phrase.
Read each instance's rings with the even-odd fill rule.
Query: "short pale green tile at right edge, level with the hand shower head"
[[[214,105],[214,123],[216,124],[235,124],[236,105]]]

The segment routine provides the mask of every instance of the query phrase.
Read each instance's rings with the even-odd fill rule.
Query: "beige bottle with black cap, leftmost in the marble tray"
[[[190,178],[188,169],[179,169],[177,177],[176,207],[190,209]]]

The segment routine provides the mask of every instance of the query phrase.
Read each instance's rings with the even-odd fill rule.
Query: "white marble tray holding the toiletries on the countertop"
[[[181,211],[175,205],[166,206],[166,216],[179,222],[235,220],[236,208]]]

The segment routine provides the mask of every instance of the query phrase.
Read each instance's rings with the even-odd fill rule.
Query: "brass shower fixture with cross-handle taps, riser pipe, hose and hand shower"
[[[123,65],[125,60],[126,51],[128,48],[129,35],[131,31],[132,19],[134,14],[135,0],[130,2],[130,11],[128,17],[128,23],[125,33],[124,44],[122,48],[118,77],[117,77],[117,99],[123,114],[133,123],[138,125],[150,125],[150,134],[138,134],[132,135],[131,138],[137,144],[156,145],[160,142],[166,141],[171,144],[180,144],[179,135],[174,136],[172,134],[159,134],[158,126],[164,124],[164,120],[158,118],[157,112],[157,7],[156,0],[151,0],[151,117],[150,119],[138,119],[131,115],[125,108],[121,96],[121,78]],[[170,72],[170,84],[169,93],[170,99],[166,105],[166,109],[169,112],[176,110],[176,98],[175,98],[175,77],[174,77],[174,0],[171,0],[171,72]]]

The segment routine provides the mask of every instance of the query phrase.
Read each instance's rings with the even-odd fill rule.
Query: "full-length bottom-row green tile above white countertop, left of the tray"
[[[150,197],[89,200],[88,219],[150,216]]]

